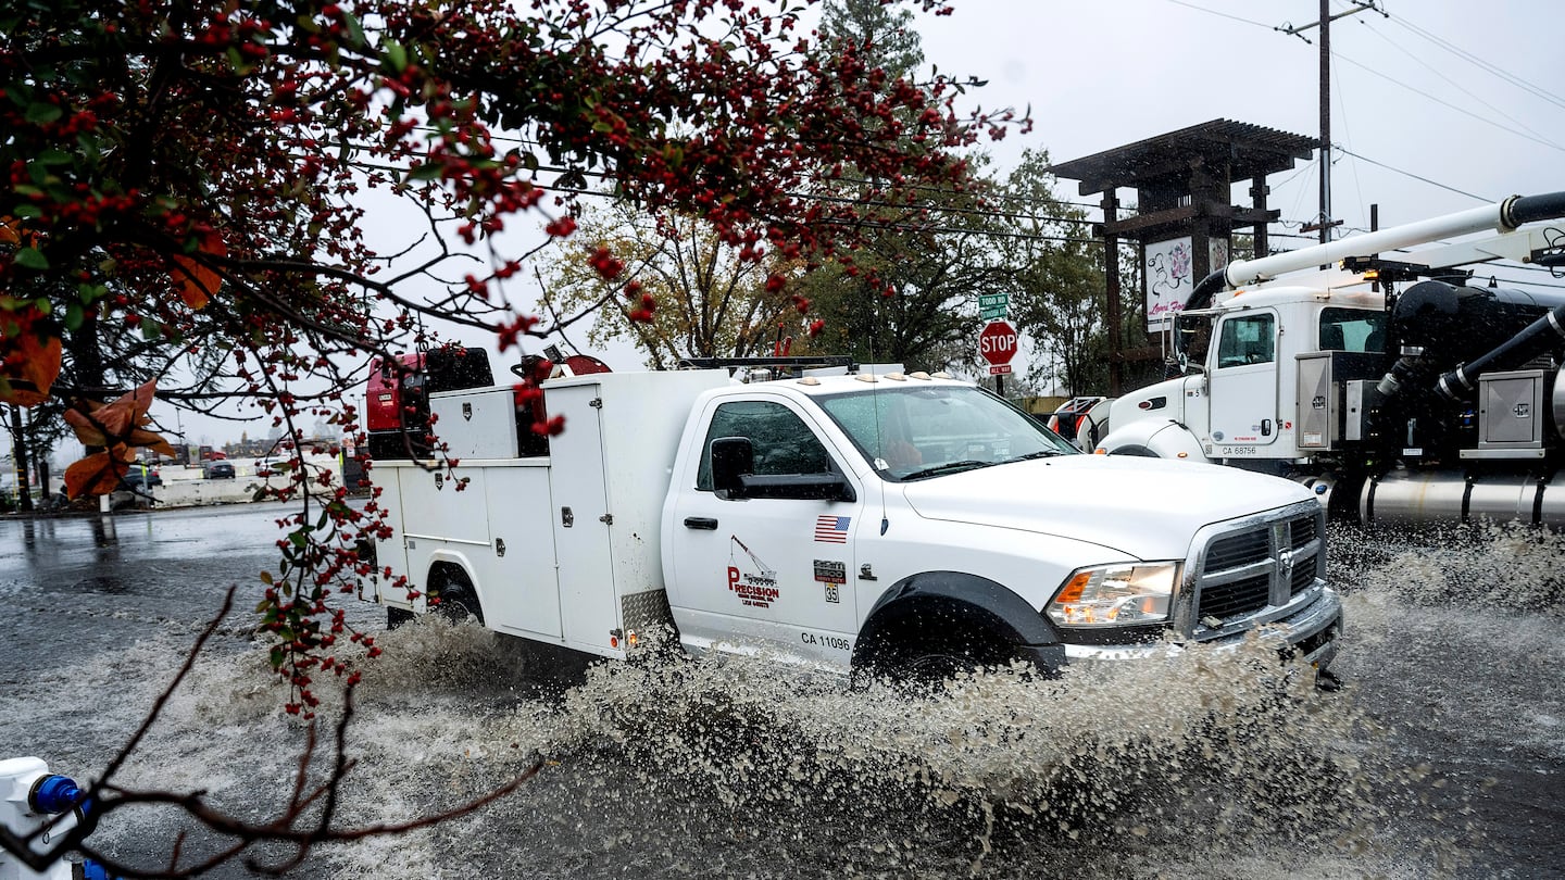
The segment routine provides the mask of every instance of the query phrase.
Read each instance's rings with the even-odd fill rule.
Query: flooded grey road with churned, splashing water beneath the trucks
[[[3,756],[97,774],[238,584],[124,780],[274,814],[304,727],[247,611],[282,514],[0,521]],[[764,659],[576,669],[421,620],[363,664],[343,822],[402,822],[543,770],[437,828],[318,847],[290,875],[1559,877],[1565,545],[1332,537],[1349,625],[1337,694],[1258,648],[909,698]],[[347,612],[383,628],[372,606]],[[180,828],[146,808],[92,842],[150,866]]]

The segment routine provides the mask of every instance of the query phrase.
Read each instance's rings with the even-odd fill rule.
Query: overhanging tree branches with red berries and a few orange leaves
[[[153,399],[272,418],[299,453],[275,490],[296,514],[258,612],[288,708],[310,716],[313,676],[358,675],[332,645],[372,645],[329,598],[371,575],[355,540],[383,526],[305,467],[300,429],[355,435],[368,359],[438,327],[504,349],[576,319],[532,315],[532,251],[509,232],[570,236],[592,177],[754,260],[851,263],[867,211],[837,197],[844,179],[912,205],[961,186],[959,149],[1011,119],[818,44],[801,11],[0,0],[0,402],[69,410],[89,451],[67,471],[77,496],[166,446]],[[612,251],[587,266],[631,290]]]

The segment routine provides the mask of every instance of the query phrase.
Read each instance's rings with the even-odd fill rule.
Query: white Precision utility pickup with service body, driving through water
[[[610,658],[671,625],[693,653],[931,678],[1257,629],[1335,655],[1299,484],[1083,456],[942,374],[759,362],[551,379],[565,432],[534,454],[510,387],[430,395],[459,463],[376,462],[390,534],[363,598]]]

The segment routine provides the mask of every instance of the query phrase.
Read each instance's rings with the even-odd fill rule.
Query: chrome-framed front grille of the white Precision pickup
[[[1326,586],[1315,501],[1207,526],[1186,564],[1175,628],[1197,640],[1285,619]]]

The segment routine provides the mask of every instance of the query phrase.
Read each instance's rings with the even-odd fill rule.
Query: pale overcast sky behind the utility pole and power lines
[[[1031,135],[988,146],[1000,172],[1028,147],[1066,161],[1219,117],[1319,135],[1319,31],[1305,31],[1305,42],[1274,30],[1315,22],[1318,0],[952,3],[952,16],[919,17],[926,63],[988,80],[964,106],[1030,108],[1034,119]],[[1349,8],[1332,0],[1333,13]],[[1379,8],[1390,17],[1365,11],[1332,23],[1332,141],[1341,149],[1332,213],[1344,233],[1368,229],[1371,202],[1385,227],[1565,189],[1565,5],[1382,0]],[[1271,179],[1269,207],[1293,230],[1318,213],[1316,174],[1311,158]],[[1060,194],[1088,200],[1074,182]],[[515,360],[490,349],[496,365]],[[629,348],[599,354],[617,370],[642,366]],[[172,412],[158,415],[174,421]],[[246,426],[186,417],[183,427],[192,443],[222,443]]]

